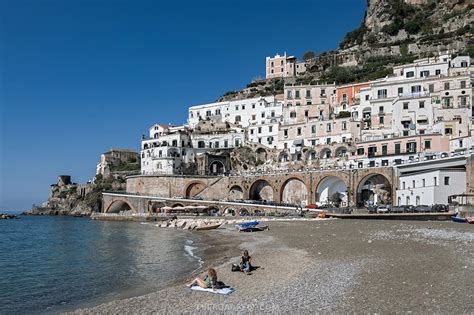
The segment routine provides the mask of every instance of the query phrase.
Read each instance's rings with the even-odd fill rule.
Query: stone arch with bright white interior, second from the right
[[[348,184],[341,177],[329,175],[322,178],[316,186],[316,201],[323,204],[349,204]],[[337,195],[336,195],[337,194]]]

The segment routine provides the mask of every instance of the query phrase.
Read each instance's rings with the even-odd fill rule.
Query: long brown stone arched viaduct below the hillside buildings
[[[153,213],[163,207],[201,206],[220,213],[227,209],[281,212],[334,198],[341,206],[356,206],[373,198],[391,203],[397,184],[392,167],[218,177],[138,175],[127,178],[126,193],[104,193],[102,209],[105,213]]]

